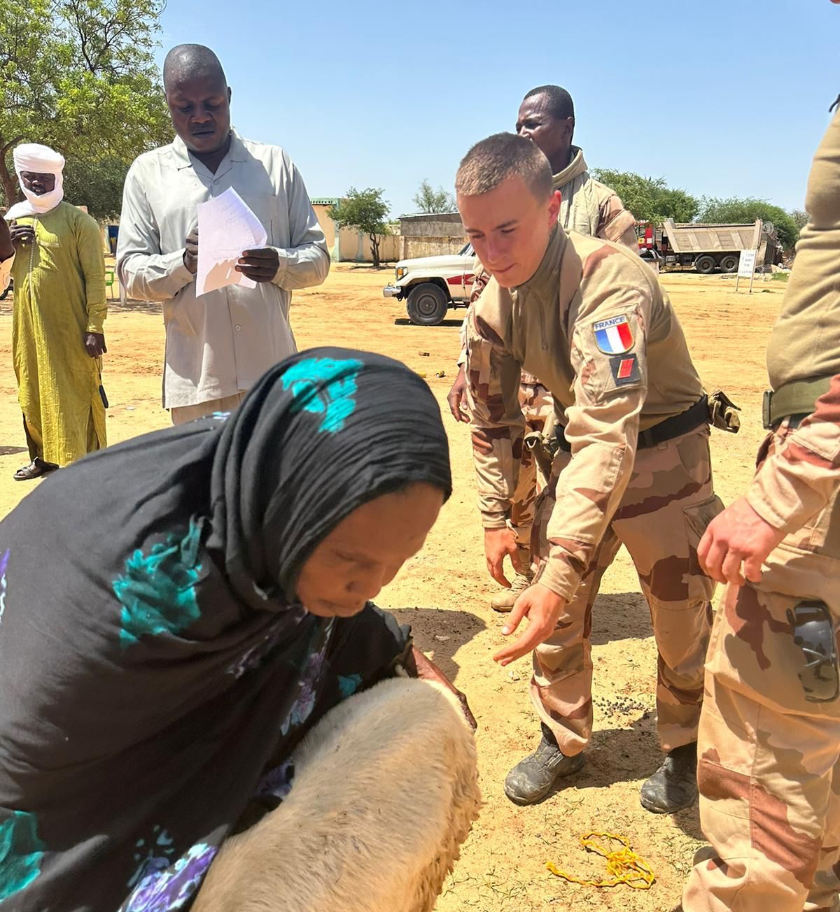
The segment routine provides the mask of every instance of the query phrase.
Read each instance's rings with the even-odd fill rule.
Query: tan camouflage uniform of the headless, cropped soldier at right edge
[[[804,699],[786,617],[818,599],[840,629],[840,114],[814,158],[806,209],[768,368],[777,391],[803,378],[830,385],[813,414],[782,420],[764,441],[747,494],[786,536],[761,582],[728,586],[715,617],[698,744],[712,848],[696,859],[686,912],[840,906],[840,700]]]

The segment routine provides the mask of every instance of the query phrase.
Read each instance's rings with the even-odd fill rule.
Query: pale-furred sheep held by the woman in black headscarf
[[[429,912],[478,815],[473,733],[446,689],[390,679],[295,752],[291,793],[227,839],[194,912]]]

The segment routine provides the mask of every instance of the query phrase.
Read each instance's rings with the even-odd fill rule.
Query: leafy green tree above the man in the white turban
[[[92,169],[172,136],[153,51],[163,0],[0,0],[0,189],[11,150],[43,142]],[[68,195],[69,198],[69,195]],[[76,200],[73,200],[76,202]],[[108,208],[108,207],[106,207]]]

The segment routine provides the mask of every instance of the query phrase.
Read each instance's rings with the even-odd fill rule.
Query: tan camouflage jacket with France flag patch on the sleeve
[[[528,283],[504,289],[491,279],[469,311],[467,395],[488,529],[506,525],[516,488],[523,369],[551,391],[572,446],[541,576],[570,598],[621,501],[638,431],[690,408],[702,387],[650,267],[626,247],[558,226]]]

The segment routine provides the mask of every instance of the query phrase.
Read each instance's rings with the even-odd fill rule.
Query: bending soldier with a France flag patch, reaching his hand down
[[[642,803],[692,803],[703,661],[714,584],[696,545],[720,505],[709,409],[677,315],[656,275],[625,246],[566,233],[559,194],[533,144],[501,133],[467,153],[458,208],[493,276],[470,310],[467,389],[488,569],[502,585],[514,554],[510,503],[524,420],[520,371],[551,391],[560,422],[551,482],[537,506],[534,583],[503,628],[528,626],[494,658],[534,650],[537,751],[508,775],[517,803],[545,797],[583,765],[592,732],[589,632],[604,568],[624,543],[650,606],[659,652],[659,736],[667,758]]]

